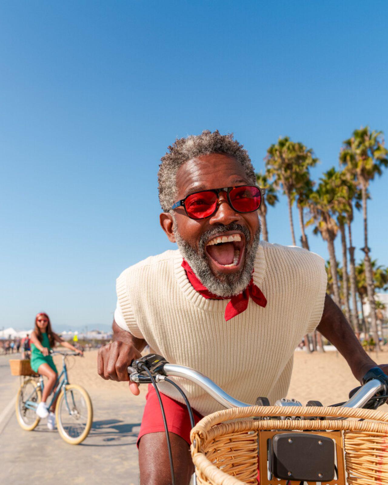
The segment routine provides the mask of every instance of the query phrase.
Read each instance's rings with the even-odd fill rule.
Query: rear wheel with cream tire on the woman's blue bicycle
[[[42,392],[33,379],[26,379],[20,386],[16,395],[16,419],[26,431],[32,431],[38,425],[40,418],[35,409],[26,407],[26,401],[39,404]]]

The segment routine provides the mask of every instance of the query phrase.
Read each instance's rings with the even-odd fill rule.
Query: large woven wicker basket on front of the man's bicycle
[[[257,484],[258,465],[260,485],[287,485],[267,474],[267,440],[281,432],[313,433],[335,441],[337,476],[322,485],[388,485],[388,413],[313,406],[294,407],[292,412],[305,419],[290,417],[290,407],[252,406],[200,420],[190,434],[198,485]],[[309,419],[314,417],[326,419]]]

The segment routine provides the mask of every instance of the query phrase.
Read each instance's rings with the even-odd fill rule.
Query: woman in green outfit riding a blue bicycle
[[[46,400],[51,391],[54,389],[57,380],[57,368],[50,356],[50,350],[55,346],[55,342],[59,342],[64,347],[74,350],[82,355],[82,352],[70,343],[61,339],[56,333],[51,330],[50,319],[47,313],[38,313],[35,317],[35,328],[31,334],[31,368],[34,372],[47,377],[48,382],[45,384],[42,393],[42,401],[36,408],[36,414],[39,418],[47,418],[47,427],[54,429],[55,415],[54,409],[56,400],[52,403],[51,409],[48,409]]]

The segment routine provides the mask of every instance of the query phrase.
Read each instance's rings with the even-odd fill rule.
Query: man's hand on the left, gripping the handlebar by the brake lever
[[[122,335],[125,333],[125,335]],[[120,336],[125,339],[116,340]],[[122,330],[117,323],[113,322],[114,342],[101,347],[98,350],[97,370],[103,379],[112,379],[113,381],[129,381],[127,367],[132,360],[140,358],[142,355],[138,348],[144,348],[146,342],[142,339],[136,339],[129,332]],[[134,343],[137,343],[138,348]],[[129,389],[135,396],[139,395],[139,386],[135,382],[129,383]]]

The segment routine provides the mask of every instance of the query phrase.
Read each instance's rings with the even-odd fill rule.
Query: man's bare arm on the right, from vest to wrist
[[[340,308],[328,295],[317,330],[339,350],[358,381],[361,381],[369,369],[377,366],[362,348]]]

